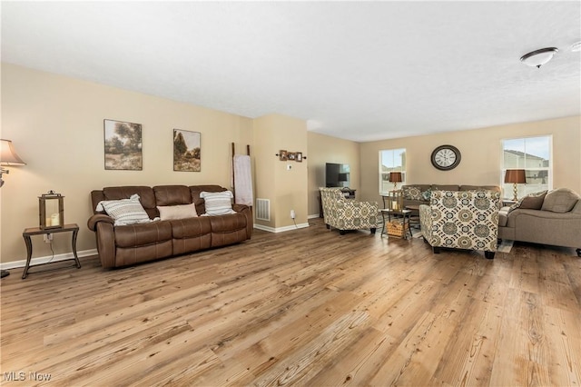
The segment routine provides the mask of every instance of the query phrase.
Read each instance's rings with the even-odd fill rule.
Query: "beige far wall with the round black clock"
[[[553,185],[581,193],[581,117],[483,129],[430,134],[360,144],[361,192],[364,200],[378,200],[378,158],[382,149],[406,148],[409,184],[501,184],[501,140],[535,135],[553,136]],[[430,154],[438,145],[458,147],[462,160],[455,169],[438,171]]]

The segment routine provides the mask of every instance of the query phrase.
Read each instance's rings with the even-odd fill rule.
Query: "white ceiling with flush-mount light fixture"
[[[2,61],[358,142],[581,114],[581,2],[2,2]],[[559,49],[540,69],[519,58]]]

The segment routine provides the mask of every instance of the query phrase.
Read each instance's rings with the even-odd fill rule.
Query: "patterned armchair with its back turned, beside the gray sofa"
[[[500,193],[493,191],[433,191],[429,205],[419,206],[424,240],[434,253],[439,247],[484,250],[494,258],[499,200]]]

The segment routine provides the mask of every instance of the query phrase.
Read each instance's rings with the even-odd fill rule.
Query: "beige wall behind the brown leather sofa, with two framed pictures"
[[[104,170],[103,119],[143,124],[143,171]],[[202,133],[202,172],[173,172],[174,128]],[[91,250],[91,190],[129,184],[230,187],[231,143],[245,154],[253,132],[252,120],[239,115],[2,64],[1,136],[13,141],[26,162],[10,167],[0,190],[5,263],[25,259],[22,232],[38,226],[41,193],[64,194],[64,221],[80,227],[77,250]],[[69,253],[70,243],[70,233],[55,234],[54,253]],[[34,257],[51,255],[42,237],[33,237],[33,244]]]

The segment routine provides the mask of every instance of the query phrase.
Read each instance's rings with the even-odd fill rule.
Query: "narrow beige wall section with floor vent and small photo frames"
[[[307,223],[307,168],[310,158],[301,163],[282,162],[275,155],[281,150],[307,155],[307,124],[305,121],[281,114],[269,114],[254,120],[256,149],[256,198],[271,200],[271,222],[256,220],[267,229],[284,230],[295,222]],[[291,169],[287,167],[291,166]]]

